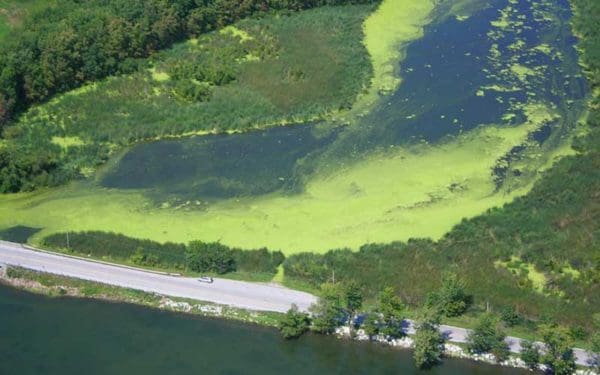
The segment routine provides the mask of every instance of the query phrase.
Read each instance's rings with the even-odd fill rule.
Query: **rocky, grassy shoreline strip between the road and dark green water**
[[[205,301],[163,296],[156,293],[47,274],[13,266],[0,266],[0,285],[6,285],[18,290],[51,298],[90,298],[106,302],[129,303],[174,313],[190,314],[204,318],[234,320],[270,328],[276,328],[279,318],[283,316],[281,313],[251,311]],[[382,335],[370,338],[364,334],[363,330],[356,330],[351,334],[348,327],[338,327],[333,335],[341,340],[368,341],[373,344],[387,345],[403,350],[411,350],[413,348],[413,339],[409,335],[399,339],[389,339]],[[523,361],[514,355],[514,353],[508,360],[498,362],[491,354],[470,354],[463,346],[450,342],[444,343],[444,357],[467,359],[496,366],[527,368]],[[580,367],[576,372],[578,375],[597,375],[591,369],[578,367]],[[540,366],[539,370],[544,371],[543,365]]]

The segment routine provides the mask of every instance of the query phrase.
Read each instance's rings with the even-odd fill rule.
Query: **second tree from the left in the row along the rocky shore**
[[[321,296],[309,309],[313,315],[312,329],[315,332],[333,333],[344,321],[346,314],[340,289],[337,284],[321,285]]]

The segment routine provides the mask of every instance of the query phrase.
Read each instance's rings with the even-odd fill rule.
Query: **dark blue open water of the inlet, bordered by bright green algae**
[[[435,143],[485,124],[517,125],[526,118],[523,105],[532,102],[544,103],[561,117],[532,140],[543,143],[551,142],[553,134],[564,136],[576,123],[588,93],[577,64],[568,1],[512,4],[505,27],[494,23],[509,1],[483,3],[488,6],[465,20],[439,15],[424,37],[407,47],[397,91],[383,98],[358,126],[322,134],[302,125],[141,144],[102,185],[148,189],[159,200],[298,190],[301,184],[296,182],[310,175],[315,165],[389,145]]]

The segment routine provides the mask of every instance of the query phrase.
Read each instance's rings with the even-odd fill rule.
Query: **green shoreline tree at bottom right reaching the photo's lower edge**
[[[542,362],[556,375],[574,373],[575,353],[569,330],[556,324],[545,324],[540,327],[540,333],[546,345]]]

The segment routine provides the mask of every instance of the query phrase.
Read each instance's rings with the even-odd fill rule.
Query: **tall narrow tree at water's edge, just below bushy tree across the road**
[[[414,360],[418,368],[430,368],[441,361],[444,337],[439,330],[440,315],[431,308],[421,311],[414,336]]]

